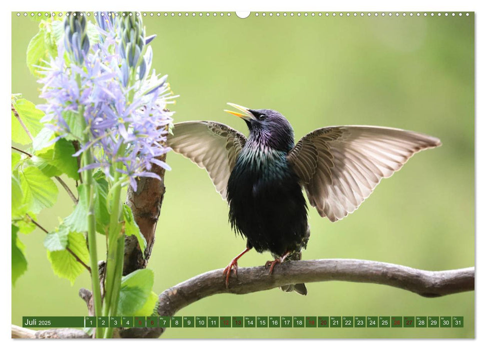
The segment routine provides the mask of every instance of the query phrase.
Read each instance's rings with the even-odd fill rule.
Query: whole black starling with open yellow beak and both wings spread
[[[250,134],[215,121],[174,124],[168,145],[205,168],[216,190],[229,203],[229,222],[246,237],[246,249],[224,269],[228,286],[238,259],[251,248],[270,251],[276,263],[300,260],[310,230],[307,205],[322,217],[337,221],[353,212],[383,177],[390,177],[416,152],[439,146],[440,140],[397,128],[365,125],[316,129],[297,144],[288,120],[272,109],[241,112]],[[284,285],[284,291],[307,294],[303,283]]]

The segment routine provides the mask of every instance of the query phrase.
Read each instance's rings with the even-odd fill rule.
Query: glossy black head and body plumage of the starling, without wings
[[[229,220],[249,248],[279,257],[300,251],[309,235],[302,188],[287,160],[293,130],[275,111],[250,112],[265,118],[247,121],[250,136],[228,180]]]

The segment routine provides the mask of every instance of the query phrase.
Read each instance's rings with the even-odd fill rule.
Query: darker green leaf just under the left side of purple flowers
[[[56,142],[54,149],[48,149],[43,153],[36,154],[32,157],[32,161],[49,177],[67,174],[72,179],[78,180],[78,161],[73,156],[74,153],[73,143],[60,138]]]

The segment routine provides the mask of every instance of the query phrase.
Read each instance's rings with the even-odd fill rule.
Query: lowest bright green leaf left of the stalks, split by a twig
[[[86,264],[89,261],[89,252],[86,247],[86,238],[83,233],[69,232],[68,247]],[[58,276],[67,278],[74,284],[76,278],[85,269],[84,266],[67,249],[47,252],[51,266]]]

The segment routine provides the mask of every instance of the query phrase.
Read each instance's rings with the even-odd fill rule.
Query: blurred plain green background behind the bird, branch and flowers
[[[226,12],[225,12],[226,13]],[[155,33],[153,67],[169,74],[175,121],[216,120],[247,133],[224,113],[231,101],[272,108],[296,138],[326,125],[399,127],[439,137],[443,145],[415,155],[378,185],[359,210],[331,223],[309,210],[304,259],[358,258],[444,270],[474,265],[474,15],[455,17],[291,17],[240,19],[205,15],[144,18]],[[26,66],[38,23],[13,13],[12,92],[39,103]],[[228,207],[207,173],[170,153],[167,193],[149,262],[154,291],[222,268],[245,247],[228,224]],[[72,210],[67,195],[39,215],[52,229]],[[57,277],[44,233],[22,235],[28,271],[12,289],[12,322],[26,315],[85,315],[72,286]],[[100,248],[102,245],[100,245]],[[103,250],[101,250],[103,251]],[[104,256],[100,254],[100,259]],[[262,265],[269,253],[247,253],[240,266]],[[464,328],[191,328],[164,337],[473,337],[474,292],[424,298],[397,288],[351,282],[308,283],[308,295],[278,289],[202,299],[178,315],[458,315]]]

